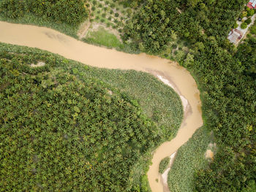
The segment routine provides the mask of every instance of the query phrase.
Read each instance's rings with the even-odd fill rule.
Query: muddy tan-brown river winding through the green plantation
[[[192,137],[197,128],[203,125],[200,111],[200,92],[193,77],[178,64],[156,56],[128,53],[109,50],[103,47],[89,45],[72,37],[61,34],[50,28],[5,23],[0,21],[0,42],[14,45],[37,47],[57,53],[83,64],[108,69],[135,69],[137,71],[158,74],[169,80],[176,92],[189,102],[189,110],[178,130],[177,136],[170,142],[163,143],[154,152],[152,165],[148,171],[148,181],[153,192],[163,191],[158,174],[159,162],[178,150],[184,142]]]

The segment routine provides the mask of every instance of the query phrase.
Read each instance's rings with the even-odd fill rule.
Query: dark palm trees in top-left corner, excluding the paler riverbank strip
[[[45,20],[78,26],[88,16],[85,0],[1,0],[0,12],[7,18],[22,18],[30,12]]]

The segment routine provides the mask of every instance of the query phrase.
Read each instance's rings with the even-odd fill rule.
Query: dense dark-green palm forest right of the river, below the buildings
[[[242,191],[256,180],[256,38],[237,50],[227,41],[245,3],[148,0],[124,27],[124,42],[147,53],[166,53],[176,35],[188,42],[179,63],[197,79],[218,145],[214,163],[197,172],[197,191]]]

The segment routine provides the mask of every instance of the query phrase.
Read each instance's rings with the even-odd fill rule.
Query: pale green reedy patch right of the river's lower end
[[[210,136],[205,128],[199,128],[177,152],[176,160],[168,173],[168,186],[173,192],[195,191],[195,172],[208,165],[205,153]]]

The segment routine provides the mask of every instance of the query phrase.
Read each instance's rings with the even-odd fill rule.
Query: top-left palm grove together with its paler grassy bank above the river
[[[53,2],[56,2],[56,4]],[[10,23],[47,26],[77,38],[79,23],[88,17],[88,10],[82,2],[80,0],[45,1],[45,4],[42,4],[40,1],[3,0],[0,1],[0,20]],[[22,9],[22,13],[12,13],[18,12],[20,9]],[[45,11],[45,9],[48,10]],[[52,13],[46,15],[47,12]],[[12,17],[12,14],[18,16]]]

